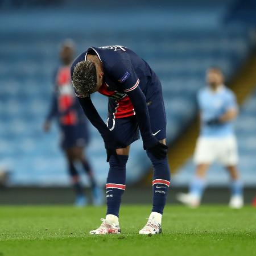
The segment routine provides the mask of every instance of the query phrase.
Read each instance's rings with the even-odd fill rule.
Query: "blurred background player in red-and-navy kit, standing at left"
[[[96,185],[92,168],[84,155],[84,148],[89,141],[87,120],[84,118],[84,113],[73,93],[71,83],[70,66],[74,52],[75,48],[72,40],[65,40],[60,49],[61,65],[55,73],[55,88],[51,108],[44,123],[44,130],[49,131],[52,119],[57,118],[61,132],[61,148],[65,153],[69,175],[76,192],[75,205],[83,206],[88,203],[76,168],[76,162],[81,163],[89,177],[93,204],[99,205],[103,199],[102,192]]]

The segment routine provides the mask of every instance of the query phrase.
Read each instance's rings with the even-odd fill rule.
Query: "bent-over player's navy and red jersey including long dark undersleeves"
[[[144,146],[156,143],[152,136],[147,103],[154,94],[162,94],[158,77],[150,66],[135,52],[123,46],[90,47],[73,62],[71,77],[76,65],[87,55],[97,55],[104,71],[104,82],[98,92],[109,97],[109,117],[125,118],[136,115]],[[100,131],[108,134],[108,127],[100,120],[90,97],[77,94],[85,114]]]

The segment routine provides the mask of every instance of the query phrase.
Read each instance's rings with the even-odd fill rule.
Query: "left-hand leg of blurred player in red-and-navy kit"
[[[65,150],[65,155],[66,155],[66,159],[67,159],[67,163],[68,163],[68,171],[69,171],[69,175],[71,177],[71,182],[72,182],[73,188],[76,193],[75,205],[77,205],[77,206],[86,205],[87,200],[84,195],[84,189],[80,182],[79,172],[77,171],[76,166],[75,166],[76,156],[73,152],[73,148],[67,148]]]

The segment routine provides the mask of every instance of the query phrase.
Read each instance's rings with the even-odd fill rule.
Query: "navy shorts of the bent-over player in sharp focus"
[[[148,113],[152,134],[158,141],[166,138],[166,111],[162,91],[154,94],[147,100]],[[108,118],[107,125],[115,134],[118,141],[129,146],[139,139],[139,125],[135,115],[125,118]],[[120,146],[122,148],[122,146]]]

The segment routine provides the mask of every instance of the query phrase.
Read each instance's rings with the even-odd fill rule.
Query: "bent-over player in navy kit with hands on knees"
[[[167,161],[166,114],[160,81],[149,65],[123,46],[90,47],[71,67],[73,86],[90,122],[104,139],[109,162],[107,212],[100,228],[90,234],[120,233],[119,208],[125,191],[130,144],[139,139],[154,166],[153,207],[139,234],[159,234],[170,170]],[[90,100],[99,92],[109,97],[108,122],[102,121]]]

